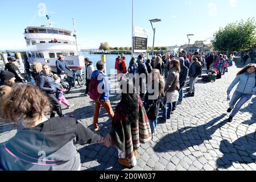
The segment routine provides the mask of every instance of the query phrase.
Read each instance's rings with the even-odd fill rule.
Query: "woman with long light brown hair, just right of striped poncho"
[[[148,81],[148,91],[145,97],[145,110],[149,119],[151,134],[155,133],[155,128],[158,123],[158,114],[162,98],[164,97],[164,79],[160,75],[158,69],[153,69],[151,72],[151,80]]]

